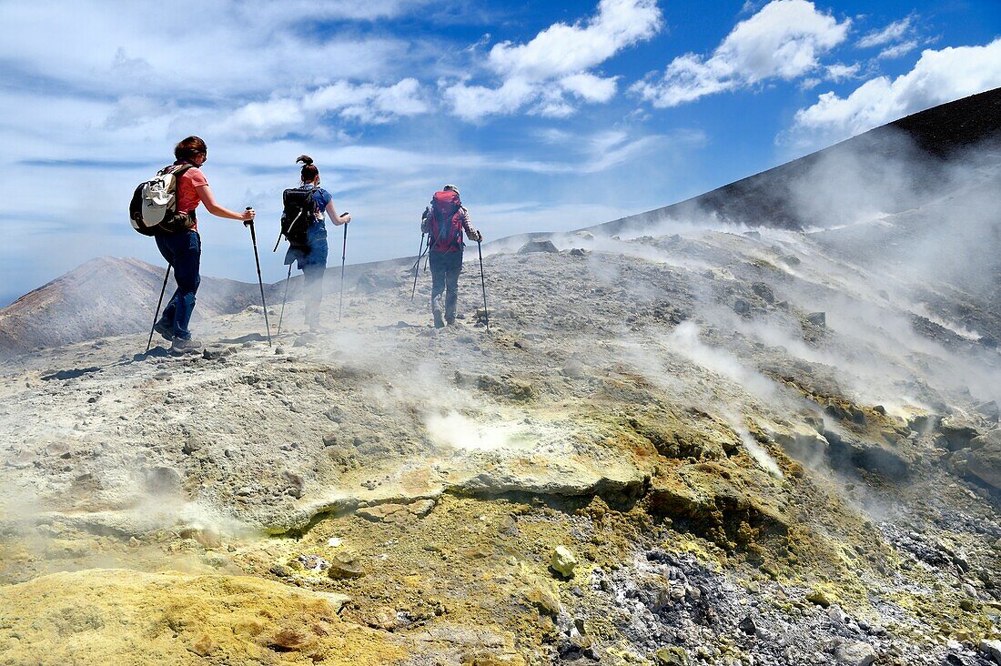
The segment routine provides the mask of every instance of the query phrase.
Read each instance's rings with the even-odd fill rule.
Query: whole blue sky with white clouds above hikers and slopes
[[[1001,86],[998,0],[2,0],[0,29],[0,305],[165,265],[127,207],[189,134],[275,281],[302,153],[354,263],[414,254],[444,183],[487,241],[579,228]],[[239,222],[199,228],[203,274],[255,280]]]

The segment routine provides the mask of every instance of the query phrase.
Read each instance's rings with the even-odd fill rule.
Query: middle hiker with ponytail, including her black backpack
[[[294,196],[289,196],[285,190],[285,209],[281,213],[281,228],[288,238],[288,251],[285,252],[284,265],[292,270],[292,263],[297,262],[302,271],[302,303],[305,308],[306,325],[310,330],[319,328],[319,305],[323,300],[323,273],[326,270],[326,225],[325,215],[330,215],[334,226],[347,224],[351,221],[348,213],[337,214],[333,207],[333,197],[330,192],[319,186],[319,169],[313,164],[309,155],[299,155],[295,163],[302,162],[300,174],[301,184],[295,189],[311,192],[308,199],[308,219],[305,224],[298,225],[288,220],[294,209]],[[291,207],[290,207],[291,204]]]

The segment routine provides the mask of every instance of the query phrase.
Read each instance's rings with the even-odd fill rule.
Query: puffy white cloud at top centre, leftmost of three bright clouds
[[[476,120],[529,113],[566,117],[575,100],[603,103],[617,91],[617,77],[590,71],[620,51],[650,39],[661,29],[654,0],[601,0],[598,13],[573,25],[555,23],[526,44],[502,42],[483,65],[502,79],[496,87],[441,82],[455,115]]]

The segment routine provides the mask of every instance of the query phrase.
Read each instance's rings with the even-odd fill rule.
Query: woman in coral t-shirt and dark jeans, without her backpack
[[[198,268],[201,264],[201,236],[198,234],[198,221],[195,208],[199,203],[205,204],[205,209],[216,217],[238,219],[247,225],[254,218],[254,211],[248,208],[235,212],[223,208],[215,201],[208,180],[201,172],[201,165],[208,159],[208,147],[197,136],[189,136],[174,146],[172,171],[184,169],[177,178],[176,199],[177,214],[189,220],[179,231],[155,234],[156,246],[163,258],[173,266],[177,290],[170,302],[163,308],[163,315],[153,324],[153,328],[165,340],[172,341],[171,352],[197,350],[201,343],[191,338],[188,322],[194,309],[195,293],[201,277]],[[185,168],[186,167],[186,168]]]

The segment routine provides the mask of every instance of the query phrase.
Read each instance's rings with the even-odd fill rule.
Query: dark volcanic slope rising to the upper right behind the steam
[[[985,144],[1001,145],[1001,88],[909,115],[694,198],[591,228],[616,234],[665,219],[706,215],[749,225],[804,228],[817,220],[790,205],[789,193],[825,159],[852,156],[863,168],[890,159],[920,162],[922,168],[910,177],[915,179],[915,189],[922,190],[937,181],[938,169],[949,158]],[[899,212],[916,203],[920,202],[901,202],[898,209],[885,212]]]

